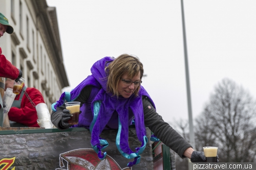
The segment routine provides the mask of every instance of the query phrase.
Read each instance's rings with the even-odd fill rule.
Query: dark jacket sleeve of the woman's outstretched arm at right
[[[145,96],[142,97],[142,103],[145,126],[148,127],[164,144],[170,147],[170,149],[175,151],[180,157],[185,158],[183,153],[187,148],[192,148],[191,144],[189,144],[168,123],[164,122],[162,116],[156,112],[156,109]]]

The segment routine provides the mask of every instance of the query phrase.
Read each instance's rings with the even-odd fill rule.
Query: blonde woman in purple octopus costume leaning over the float
[[[104,129],[118,129],[117,148],[126,158],[134,158],[127,166],[133,166],[140,161],[140,154],[147,143],[145,126],[154,135],[174,150],[180,157],[188,157],[192,162],[203,161],[202,152],[194,151],[191,145],[156,112],[156,107],[150,95],[141,86],[143,64],[136,56],[123,54],[116,59],[104,57],[95,62],[88,76],[70,93],[65,92],[59,101],[52,105],[51,120],[60,130],[71,127],[68,120],[70,111],[66,109],[66,101],[80,102],[81,113],[78,125],[91,131],[91,144],[100,159],[108,144],[99,137]],[[136,126],[141,146],[133,152],[128,144],[128,128],[133,121]]]

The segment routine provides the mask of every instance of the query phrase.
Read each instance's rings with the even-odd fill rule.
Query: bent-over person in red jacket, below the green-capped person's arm
[[[6,79],[6,88],[13,88],[13,85],[14,80]],[[35,106],[39,103],[45,103],[44,97],[36,88],[23,85],[23,89],[28,93]],[[9,120],[11,120],[11,127],[39,127],[36,109],[23,91],[16,95],[8,116]]]

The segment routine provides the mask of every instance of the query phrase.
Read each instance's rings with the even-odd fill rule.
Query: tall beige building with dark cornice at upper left
[[[41,91],[51,111],[61,89],[69,86],[55,7],[46,0],[0,0],[0,12],[14,28],[0,39],[3,54],[23,71],[27,87]]]

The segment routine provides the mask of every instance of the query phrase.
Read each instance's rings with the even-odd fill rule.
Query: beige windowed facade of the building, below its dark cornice
[[[12,3],[14,10],[11,10]],[[25,84],[28,87],[35,87],[41,91],[51,111],[51,104],[58,100],[61,94],[63,85],[60,82],[63,80],[56,72],[61,70],[58,70],[56,63],[53,62],[55,56],[49,47],[50,44],[47,43],[50,39],[44,20],[36,13],[35,3],[30,0],[1,0],[0,11],[14,28],[12,35],[5,33],[0,38],[3,54],[17,68],[23,70]],[[12,60],[12,56],[15,56],[15,60]],[[47,83],[44,84],[45,80]]]

